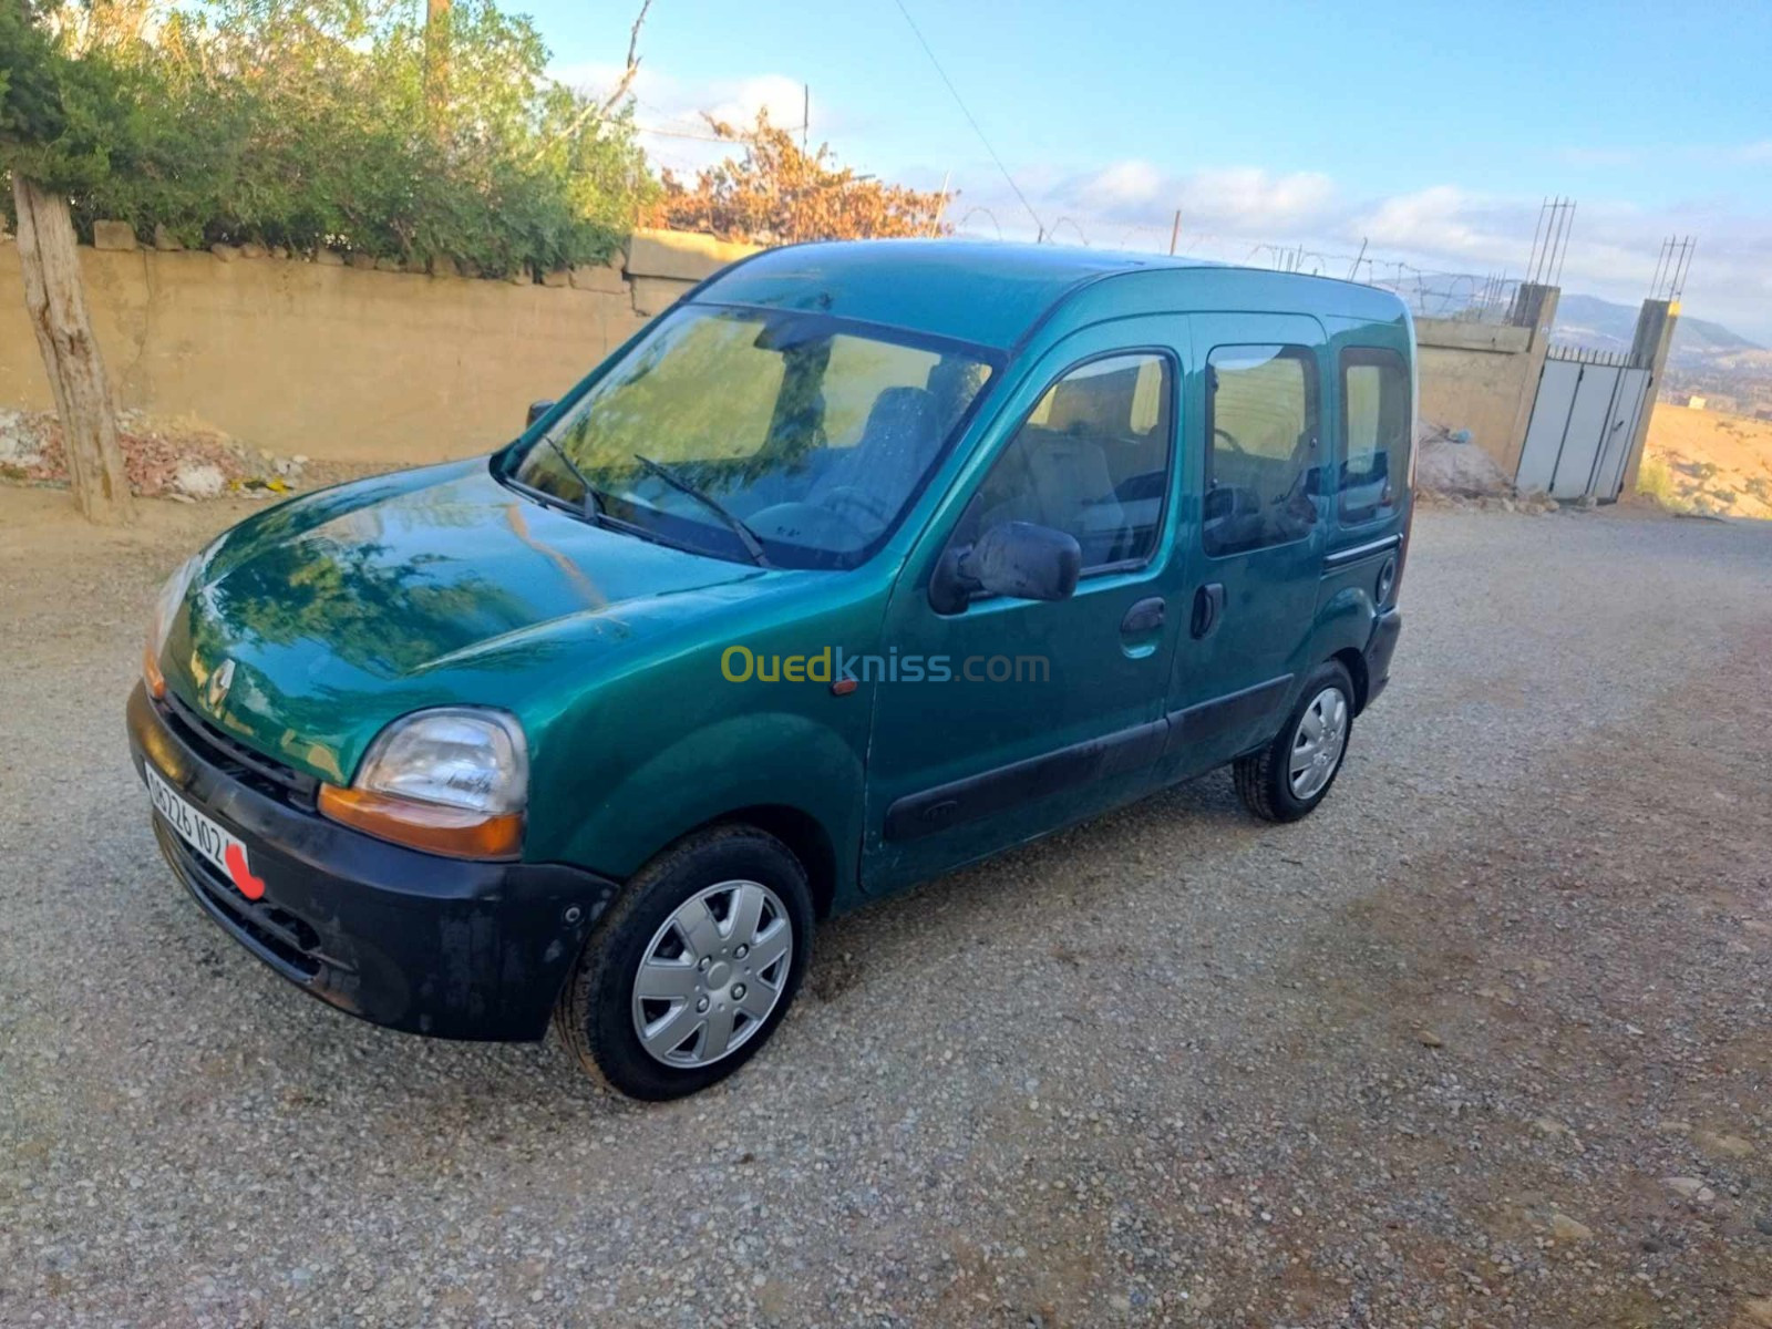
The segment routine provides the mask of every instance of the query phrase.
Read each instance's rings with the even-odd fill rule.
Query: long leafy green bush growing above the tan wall
[[[117,218],[144,239],[163,227],[184,245],[448,257],[487,275],[611,253],[656,190],[631,119],[553,83],[540,35],[494,0],[457,0],[431,30],[418,11],[206,0],[168,11],[152,39],[101,41],[64,14],[58,41],[89,43],[67,64],[120,110],[71,124],[53,168],[21,165],[73,195],[83,234]]]

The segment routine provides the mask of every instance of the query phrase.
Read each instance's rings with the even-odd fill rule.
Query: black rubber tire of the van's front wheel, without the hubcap
[[[780,996],[774,1008],[719,1060],[693,1067],[666,1065],[647,1051],[636,1030],[640,964],[677,911],[721,882],[757,882],[785,907],[792,929],[787,973],[776,971]],[[629,1097],[661,1100],[695,1093],[744,1065],[774,1033],[806,975],[812,927],[806,870],[787,845],[751,826],[698,831],[647,863],[622,890],[585,941],[560,992],[555,1024],[585,1070]],[[762,946],[758,941],[758,950]]]

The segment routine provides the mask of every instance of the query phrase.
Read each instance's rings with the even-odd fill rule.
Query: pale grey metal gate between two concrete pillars
[[[1513,477],[1520,493],[1618,498],[1648,388],[1650,370],[1628,356],[1552,346]]]

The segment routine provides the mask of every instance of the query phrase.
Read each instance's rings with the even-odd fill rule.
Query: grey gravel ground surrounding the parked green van
[[[120,709],[234,512],[62,501],[0,491],[0,1322],[1772,1325],[1772,525],[1423,514],[1315,817],[840,920],[643,1108],[198,914]]]

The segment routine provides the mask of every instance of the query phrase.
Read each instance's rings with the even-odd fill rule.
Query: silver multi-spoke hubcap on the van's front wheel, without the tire
[[[634,975],[634,1033],[668,1067],[705,1067],[750,1042],[781,1001],[794,927],[755,881],[691,895],[647,943]]]

